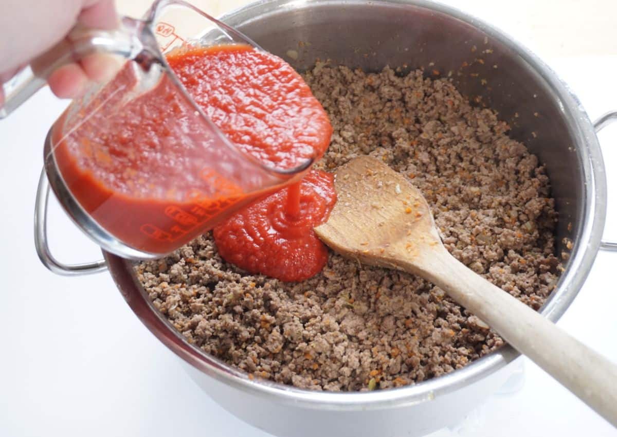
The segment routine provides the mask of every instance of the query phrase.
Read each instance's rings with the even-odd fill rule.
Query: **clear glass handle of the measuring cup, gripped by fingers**
[[[0,99],[0,119],[7,117],[41,89],[49,75],[63,65],[78,62],[94,53],[117,54],[126,59],[138,59],[140,56],[141,59],[158,59],[157,46],[153,41],[148,22],[128,17],[120,20],[114,30],[75,26],[62,41],[4,84],[4,102]]]

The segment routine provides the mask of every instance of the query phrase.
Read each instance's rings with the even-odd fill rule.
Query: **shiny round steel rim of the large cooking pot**
[[[574,237],[568,268],[563,272],[555,292],[550,296],[540,313],[557,322],[578,294],[590,272],[600,248],[600,238],[605,225],[607,209],[607,181],[602,152],[592,123],[584,108],[571,89],[558,78],[548,65],[529,49],[517,43],[503,31],[482,22],[471,15],[450,6],[427,0],[304,0],[302,5],[341,3],[345,5],[390,4],[393,7],[420,7],[433,12],[450,15],[455,19],[478,28],[490,38],[499,41],[520,56],[540,78],[545,81],[554,98],[562,105],[563,115],[571,128],[571,135],[577,141],[576,152],[582,165],[584,189],[582,190],[583,223],[578,235]],[[233,10],[220,18],[228,25],[234,26],[257,20],[263,15],[271,14],[281,8],[294,7],[294,0],[260,0]],[[383,391],[333,393],[317,392],[274,383],[265,380],[250,380],[247,374],[230,367],[224,362],[207,355],[201,349],[189,344],[184,337],[172,327],[148,299],[143,286],[132,274],[132,262],[103,252],[118,289],[126,302],[141,319],[146,327],[176,355],[193,365],[210,377],[270,401],[286,402],[298,407],[322,410],[374,410],[402,407],[431,401],[444,396],[463,386],[470,385],[505,367],[520,356],[511,346],[506,345],[497,351],[474,360],[462,369],[455,370],[440,377],[421,381],[415,385]]]

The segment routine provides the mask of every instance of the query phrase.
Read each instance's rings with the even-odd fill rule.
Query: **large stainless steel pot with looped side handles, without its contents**
[[[223,17],[263,48],[297,69],[329,59],[365,70],[385,65],[424,67],[453,81],[472,101],[497,111],[547,165],[560,214],[561,241],[574,241],[566,270],[542,308],[556,321],[587,277],[603,243],[607,185],[594,125],[568,87],[536,56],[515,41],[458,10],[413,0],[273,0],[255,2]],[[510,347],[462,370],[398,389],[370,393],[317,393],[247,375],[184,341],[152,306],[135,279],[131,262],[105,253],[105,261],[64,265],[49,253],[44,215],[45,178],[36,210],[36,242],[44,264],[61,274],[81,274],[107,265],[118,288],[142,322],[188,364],[193,378],[225,409],[278,436],[420,436],[457,423],[511,374],[518,354]],[[207,432],[207,431],[205,431]]]

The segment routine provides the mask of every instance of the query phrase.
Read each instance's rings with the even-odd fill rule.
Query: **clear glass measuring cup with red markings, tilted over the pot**
[[[103,249],[131,259],[164,256],[239,207],[299,179],[310,167],[311,159],[294,169],[274,169],[239,151],[181,85],[165,59],[171,51],[217,44],[250,44],[259,49],[246,36],[190,4],[157,1],[144,20],[124,18],[111,32],[76,29],[68,41],[55,49],[60,58],[64,54],[64,61],[54,61],[48,73],[62,62],[93,52],[126,59],[115,78],[72,102],[49,131],[44,148],[43,176],[73,221]],[[19,106],[42,82],[29,78],[14,86],[17,91],[6,94],[5,111]],[[159,94],[164,94],[165,102],[152,98]],[[175,109],[170,112],[167,106]],[[148,161],[156,165],[149,167],[143,180],[131,179],[138,185],[131,193],[96,183],[72,159],[75,148],[82,153],[87,149],[102,164],[110,153],[125,152],[122,144],[110,150],[103,143],[110,133],[130,123],[129,109],[139,110],[140,122],[162,126],[156,131],[162,135],[144,138],[151,148],[144,159],[160,156]],[[113,183],[112,178],[107,182]],[[46,203],[46,181],[41,183],[39,205]],[[38,207],[39,255],[48,252],[44,215],[44,208]]]

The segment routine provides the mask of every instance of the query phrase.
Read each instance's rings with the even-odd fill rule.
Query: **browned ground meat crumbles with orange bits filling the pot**
[[[421,189],[447,249],[538,309],[558,277],[544,167],[491,110],[450,81],[318,64],[305,78],[334,127],[320,165],[383,159]],[[154,305],[205,352],[300,388],[383,389],[426,380],[503,341],[427,281],[331,254],[302,283],[246,275],[204,235],[136,266]]]

